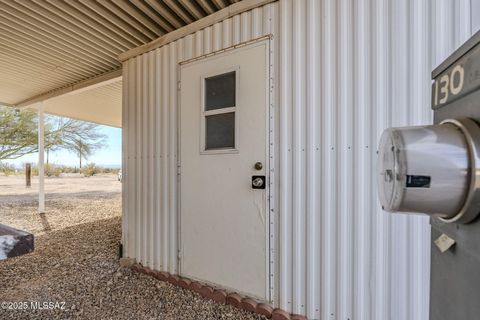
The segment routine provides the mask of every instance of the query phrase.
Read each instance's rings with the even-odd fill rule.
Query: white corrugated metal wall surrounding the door
[[[385,127],[431,122],[430,71],[470,35],[470,6],[281,0],[125,62],[125,254],[178,271],[177,63],[272,33],[275,305],[428,319],[428,220],[380,210],[376,146]]]

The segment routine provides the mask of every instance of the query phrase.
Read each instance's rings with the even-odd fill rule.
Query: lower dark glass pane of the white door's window
[[[205,150],[235,148],[235,112],[205,117]]]

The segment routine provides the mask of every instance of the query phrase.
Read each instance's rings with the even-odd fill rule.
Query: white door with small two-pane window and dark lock
[[[262,300],[267,48],[263,41],[185,63],[180,74],[180,273]]]

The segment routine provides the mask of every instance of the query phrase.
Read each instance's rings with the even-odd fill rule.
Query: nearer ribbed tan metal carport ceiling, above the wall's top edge
[[[120,53],[234,2],[0,0],[0,102],[26,105],[47,92],[112,73],[121,68]],[[121,87],[116,90],[121,97]]]

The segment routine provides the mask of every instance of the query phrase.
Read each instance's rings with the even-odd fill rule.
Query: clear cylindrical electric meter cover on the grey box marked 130
[[[453,123],[390,128],[379,145],[378,190],[390,212],[455,217],[469,193],[469,146]]]

